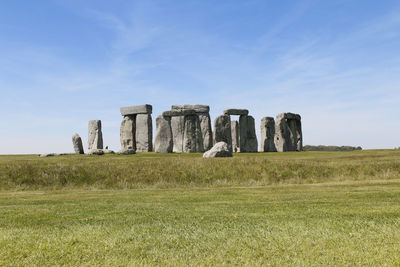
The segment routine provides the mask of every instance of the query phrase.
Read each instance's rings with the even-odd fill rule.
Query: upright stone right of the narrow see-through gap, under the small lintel
[[[240,115],[240,152],[257,152],[257,136],[254,118],[252,116]]]

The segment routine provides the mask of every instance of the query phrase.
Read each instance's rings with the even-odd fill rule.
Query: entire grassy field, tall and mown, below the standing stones
[[[400,265],[400,151],[0,156],[0,266]]]

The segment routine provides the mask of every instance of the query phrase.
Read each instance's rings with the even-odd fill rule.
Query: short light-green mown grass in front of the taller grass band
[[[400,265],[400,180],[0,193],[0,266]]]

